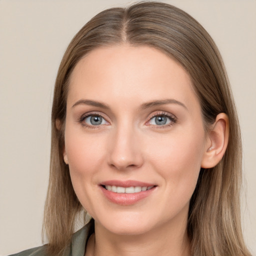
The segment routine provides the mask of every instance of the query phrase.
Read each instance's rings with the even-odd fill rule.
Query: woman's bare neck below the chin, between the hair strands
[[[170,221],[143,234],[122,235],[109,232],[95,221],[95,234],[88,241],[85,255],[188,256],[186,224],[186,220]]]

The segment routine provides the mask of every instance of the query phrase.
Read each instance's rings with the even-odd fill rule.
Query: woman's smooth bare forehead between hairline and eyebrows
[[[173,59],[149,46],[107,46],[78,61],[70,76],[67,104],[80,98],[144,102],[174,98],[197,103],[190,77]]]

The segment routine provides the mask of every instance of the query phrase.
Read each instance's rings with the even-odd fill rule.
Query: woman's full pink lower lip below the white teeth
[[[137,193],[116,193],[109,191],[102,186],[100,186],[100,189],[110,202],[119,205],[131,205],[149,196],[155,190],[155,187]]]

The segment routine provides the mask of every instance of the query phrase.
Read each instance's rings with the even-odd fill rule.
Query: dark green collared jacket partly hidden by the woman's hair
[[[70,244],[66,247],[63,256],[83,256],[87,240],[94,231],[94,221],[90,221],[72,235]],[[51,256],[46,254],[47,245],[31,248],[9,256]]]

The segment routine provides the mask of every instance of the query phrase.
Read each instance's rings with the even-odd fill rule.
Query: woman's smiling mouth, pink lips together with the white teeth
[[[119,205],[131,205],[149,196],[156,185],[135,180],[108,180],[99,187],[109,201]]]

